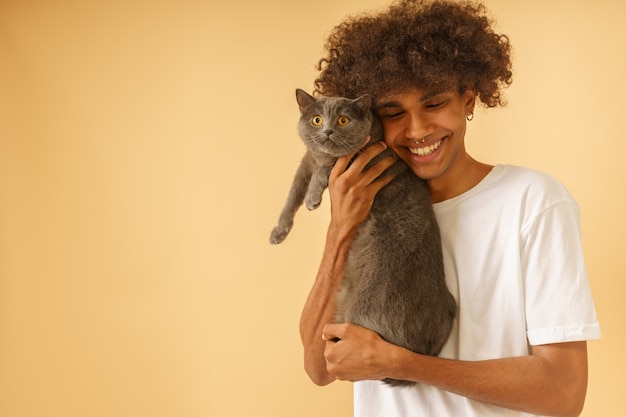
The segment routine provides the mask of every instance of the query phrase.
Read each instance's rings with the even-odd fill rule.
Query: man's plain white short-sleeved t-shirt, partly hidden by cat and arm
[[[525,356],[529,345],[600,337],[578,205],[552,177],[498,165],[474,188],[434,204],[448,288],[459,306],[440,356]],[[356,417],[528,416],[427,384],[354,386]]]

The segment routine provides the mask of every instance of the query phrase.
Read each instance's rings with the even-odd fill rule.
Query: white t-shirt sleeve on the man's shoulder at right
[[[529,343],[598,339],[576,202],[563,199],[541,210],[521,238]]]

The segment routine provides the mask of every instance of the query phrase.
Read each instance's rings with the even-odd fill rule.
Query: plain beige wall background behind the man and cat
[[[303,153],[294,89],[383,4],[0,1],[0,415],[351,414],[349,383],[301,365],[327,204],[267,240]],[[468,146],[578,199],[603,329],[584,415],[623,416],[626,3],[487,4],[515,82]]]

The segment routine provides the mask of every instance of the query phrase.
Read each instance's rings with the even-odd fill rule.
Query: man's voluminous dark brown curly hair
[[[374,97],[410,88],[472,88],[487,107],[503,106],[512,82],[511,46],[482,4],[400,0],[376,15],[336,26],[320,59],[315,92]]]

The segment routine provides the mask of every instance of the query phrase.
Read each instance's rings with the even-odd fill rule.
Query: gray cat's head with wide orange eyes
[[[370,96],[313,97],[297,89],[296,99],[300,107],[298,132],[311,152],[339,157],[365,144],[373,118]]]

